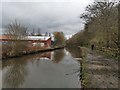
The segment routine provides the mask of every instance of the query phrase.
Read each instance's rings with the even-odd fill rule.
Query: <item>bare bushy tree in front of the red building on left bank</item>
[[[7,26],[7,35],[13,41],[9,41],[12,55],[19,55],[27,48],[27,42],[22,41],[27,36],[27,28],[16,20]]]

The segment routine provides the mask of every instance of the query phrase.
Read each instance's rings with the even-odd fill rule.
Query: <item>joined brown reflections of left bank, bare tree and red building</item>
[[[26,64],[28,62],[33,63],[34,60],[39,60],[39,58],[51,59],[51,52],[29,55],[22,58],[14,58],[2,61],[3,70],[3,88],[19,88],[25,81],[25,77],[28,74],[28,69]],[[37,63],[36,63],[37,64]]]

